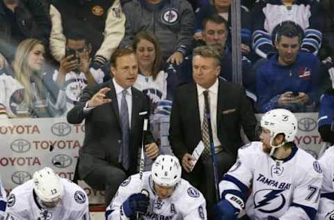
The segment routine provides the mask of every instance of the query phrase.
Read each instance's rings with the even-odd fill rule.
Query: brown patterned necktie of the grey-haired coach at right
[[[202,121],[202,141],[204,143],[204,150],[202,152],[202,160],[205,162],[211,156],[211,144],[210,144],[210,134],[209,134],[209,122],[207,120],[207,108],[209,108],[209,91],[204,91],[204,111],[203,111],[203,121]]]

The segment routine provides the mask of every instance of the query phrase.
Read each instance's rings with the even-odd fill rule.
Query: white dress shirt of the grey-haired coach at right
[[[198,107],[200,109],[200,126],[202,127],[203,117],[204,117],[204,91],[209,91],[209,104],[210,104],[210,113],[211,113],[211,127],[212,127],[212,137],[214,139],[214,146],[221,146],[221,141],[219,141],[217,136],[217,102],[218,102],[218,79],[214,82],[214,84],[206,89],[202,86],[196,84],[197,93],[198,93]],[[215,149],[217,151],[218,149]]]

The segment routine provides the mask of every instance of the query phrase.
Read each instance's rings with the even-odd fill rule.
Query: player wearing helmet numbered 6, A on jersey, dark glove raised
[[[207,219],[205,198],[181,178],[181,171],[177,157],[160,155],[152,170],[142,173],[143,180],[138,173],[120,185],[106,209],[106,219],[134,219],[137,213],[144,220]]]

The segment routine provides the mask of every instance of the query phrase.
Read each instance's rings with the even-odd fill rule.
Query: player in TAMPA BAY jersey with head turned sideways
[[[256,220],[315,219],[322,171],[294,144],[297,127],[296,117],[286,109],[262,116],[261,142],[240,148],[237,162],[219,183],[222,200],[214,207],[216,219],[237,219],[244,211]]]

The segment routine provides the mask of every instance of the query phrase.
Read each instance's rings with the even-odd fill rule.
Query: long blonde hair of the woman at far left
[[[41,40],[29,38],[19,43],[16,49],[15,58],[13,61],[14,76],[17,81],[24,87],[24,102],[31,107],[33,102],[33,86],[31,85],[31,78],[35,81],[35,86],[38,95],[41,99],[45,99],[45,91],[42,84],[42,72],[34,72],[28,64],[29,52],[35,45],[42,45]]]

